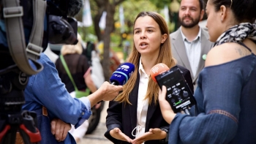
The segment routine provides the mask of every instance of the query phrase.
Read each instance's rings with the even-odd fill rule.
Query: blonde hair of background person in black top
[[[65,56],[67,54],[81,54],[83,52],[83,47],[81,44],[82,38],[78,34],[78,43],[76,45],[63,45],[61,48],[61,55]]]

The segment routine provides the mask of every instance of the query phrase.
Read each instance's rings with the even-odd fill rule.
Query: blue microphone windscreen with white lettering
[[[135,71],[135,65],[132,63],[123,63],[113,72],[113,75],[110,77],[110,83],[114,85],[123,86],[129,80],[129,77],[132,76],[132,73]]]

